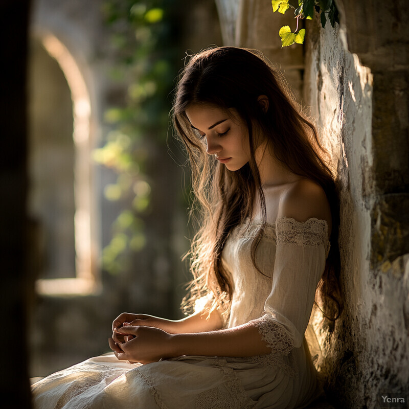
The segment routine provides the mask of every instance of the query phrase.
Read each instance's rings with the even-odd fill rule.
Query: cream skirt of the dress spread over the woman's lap
[[[306,351],[305,351],[306,348]],[[292,351],[305,363],[306,346]],[[299,356],[297,356],[299,355]],[[310,368],[288,375],[257,359],[181,356],[146,365],[113,353],[33,385],[35,409],[293,409],[322,394]],[[302,393],[300,393],[302,392]]]

